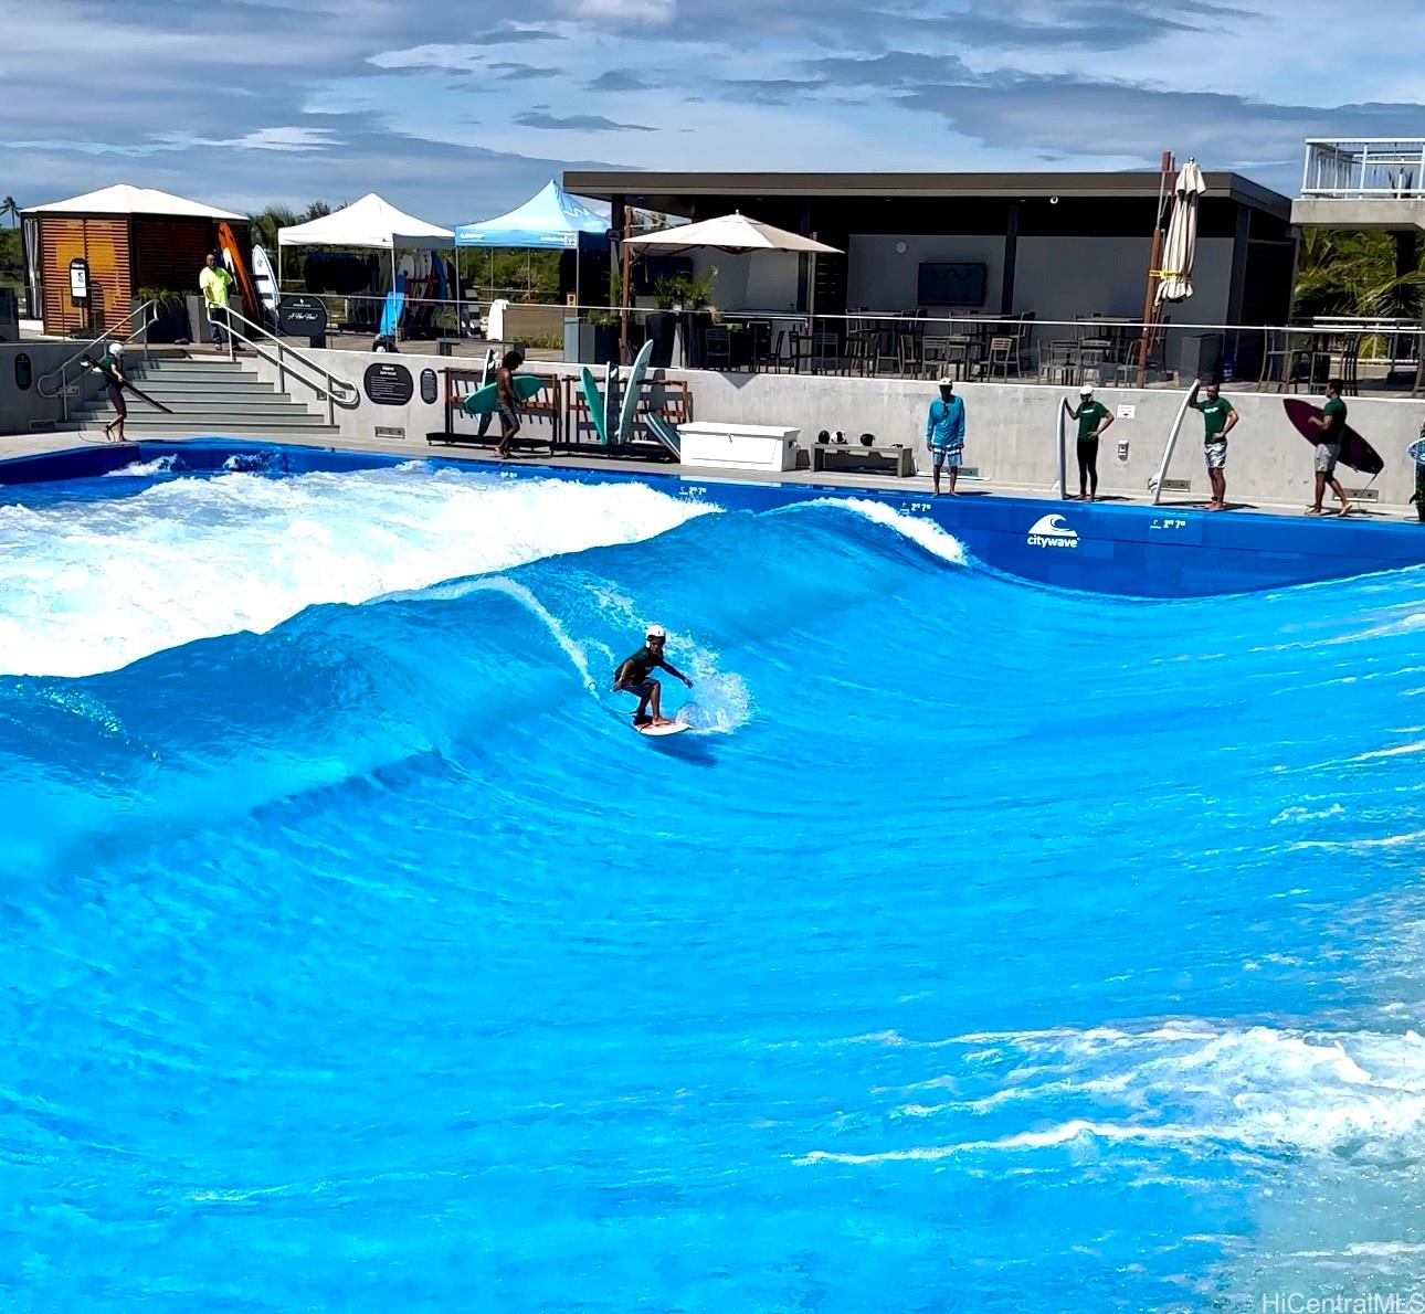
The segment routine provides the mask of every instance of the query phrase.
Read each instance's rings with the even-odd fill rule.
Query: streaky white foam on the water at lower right
[[[891,1033],[893,1035],[893,1033]],[[896,1036],[856,1036],[901,1047]],[[842,1042],[845,1043],[845,1042]],[[983,1049],[989,1043],[992,1047]],[[1000,1136],[854,1153],[812,1150],[799,1163],[896,1163],[959,1154],[1032,1153],[1080,1139],[1190,1146],[1213,1142],[1257,1153],[1414,1156],[1425,1132],[1425,1039],[1416,1032],[1301,1032],[1173,1022],[1141,1032],[1117,1028],[1005,1032],[922,1042],[926,1052],[962,1049],[958,1076],[913,1082],[970,1085],[1000,1093],[939,1106],[899,1105],[888,1124],[933,1124],[1006,1105],[1033,1117]],[[993,1063],[986,1075],[983,1065]],[[1070,1107],[1064,1107],[1066,1103]],[[1171,1110],[1163,1116],[1159,1110]]]

